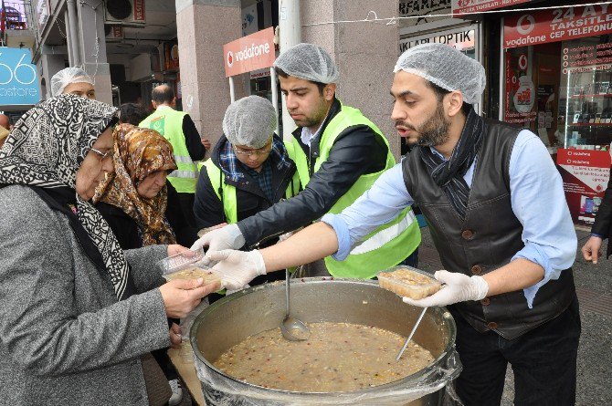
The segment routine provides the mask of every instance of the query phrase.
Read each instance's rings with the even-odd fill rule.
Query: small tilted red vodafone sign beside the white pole
[[[223,46],[226,78],[274,64],[274,28],[243,36]]]

